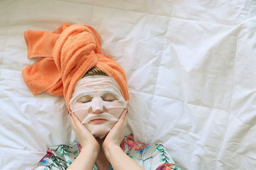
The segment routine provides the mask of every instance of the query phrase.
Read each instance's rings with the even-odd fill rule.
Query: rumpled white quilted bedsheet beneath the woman
[[[87,24],[129,84],[129,132],[182,169],[256,169],[255,0],[0,1],[0,169],[74,140],[62,97],[33,96],[23,32]]]

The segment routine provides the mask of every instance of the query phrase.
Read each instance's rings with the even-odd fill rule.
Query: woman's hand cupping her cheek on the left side
[[[100,145],[94,138],[92,133],[83,124],[81,124],[80,120],[76,117],[74,113],[69,112],[69,115],[72,129],[74,130],[77,141],[82,146],[82,148],[90,147],[99,153]]]

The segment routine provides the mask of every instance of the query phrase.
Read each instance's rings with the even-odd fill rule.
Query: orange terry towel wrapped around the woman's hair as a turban
[[[118,83],[125,101],[129,100],[125,71],[115,60],[105,56],[100,48],[100,35],[90,25],[70,25],[67,22],[54,32],[24,32],[28,58],[42,57],[22,69],[23,79],[36,95],[47,92],[64,96],[68,103],[74,86],[92,67],[98,67]]]

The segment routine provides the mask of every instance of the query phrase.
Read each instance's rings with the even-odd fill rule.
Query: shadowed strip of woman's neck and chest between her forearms
[[[100,145],[100,151],[99,151],[99,155],[98,155],[97,160],[96,160],[96,164],[97,164],[98,169],[106,170],[106,169],[108,169],[109,161],[106,158],[105,153],[102,149],[102,143],[104,142],[105,138],[102,138],[102,139],[96,138],[96,139],[97,139],[97,141]]]

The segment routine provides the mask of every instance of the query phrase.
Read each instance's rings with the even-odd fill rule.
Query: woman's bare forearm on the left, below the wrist
[[[96,162],[99,150],[87,147],[83,148],[78,157],[72,162],[67,170],[92,170]]]

